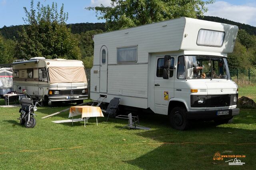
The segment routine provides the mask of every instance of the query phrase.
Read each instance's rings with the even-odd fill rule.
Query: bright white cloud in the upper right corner
[[[242,24],[256,26],[256,3],[234,5],[225,1],[208,4],[205,16],[217,16]]]

